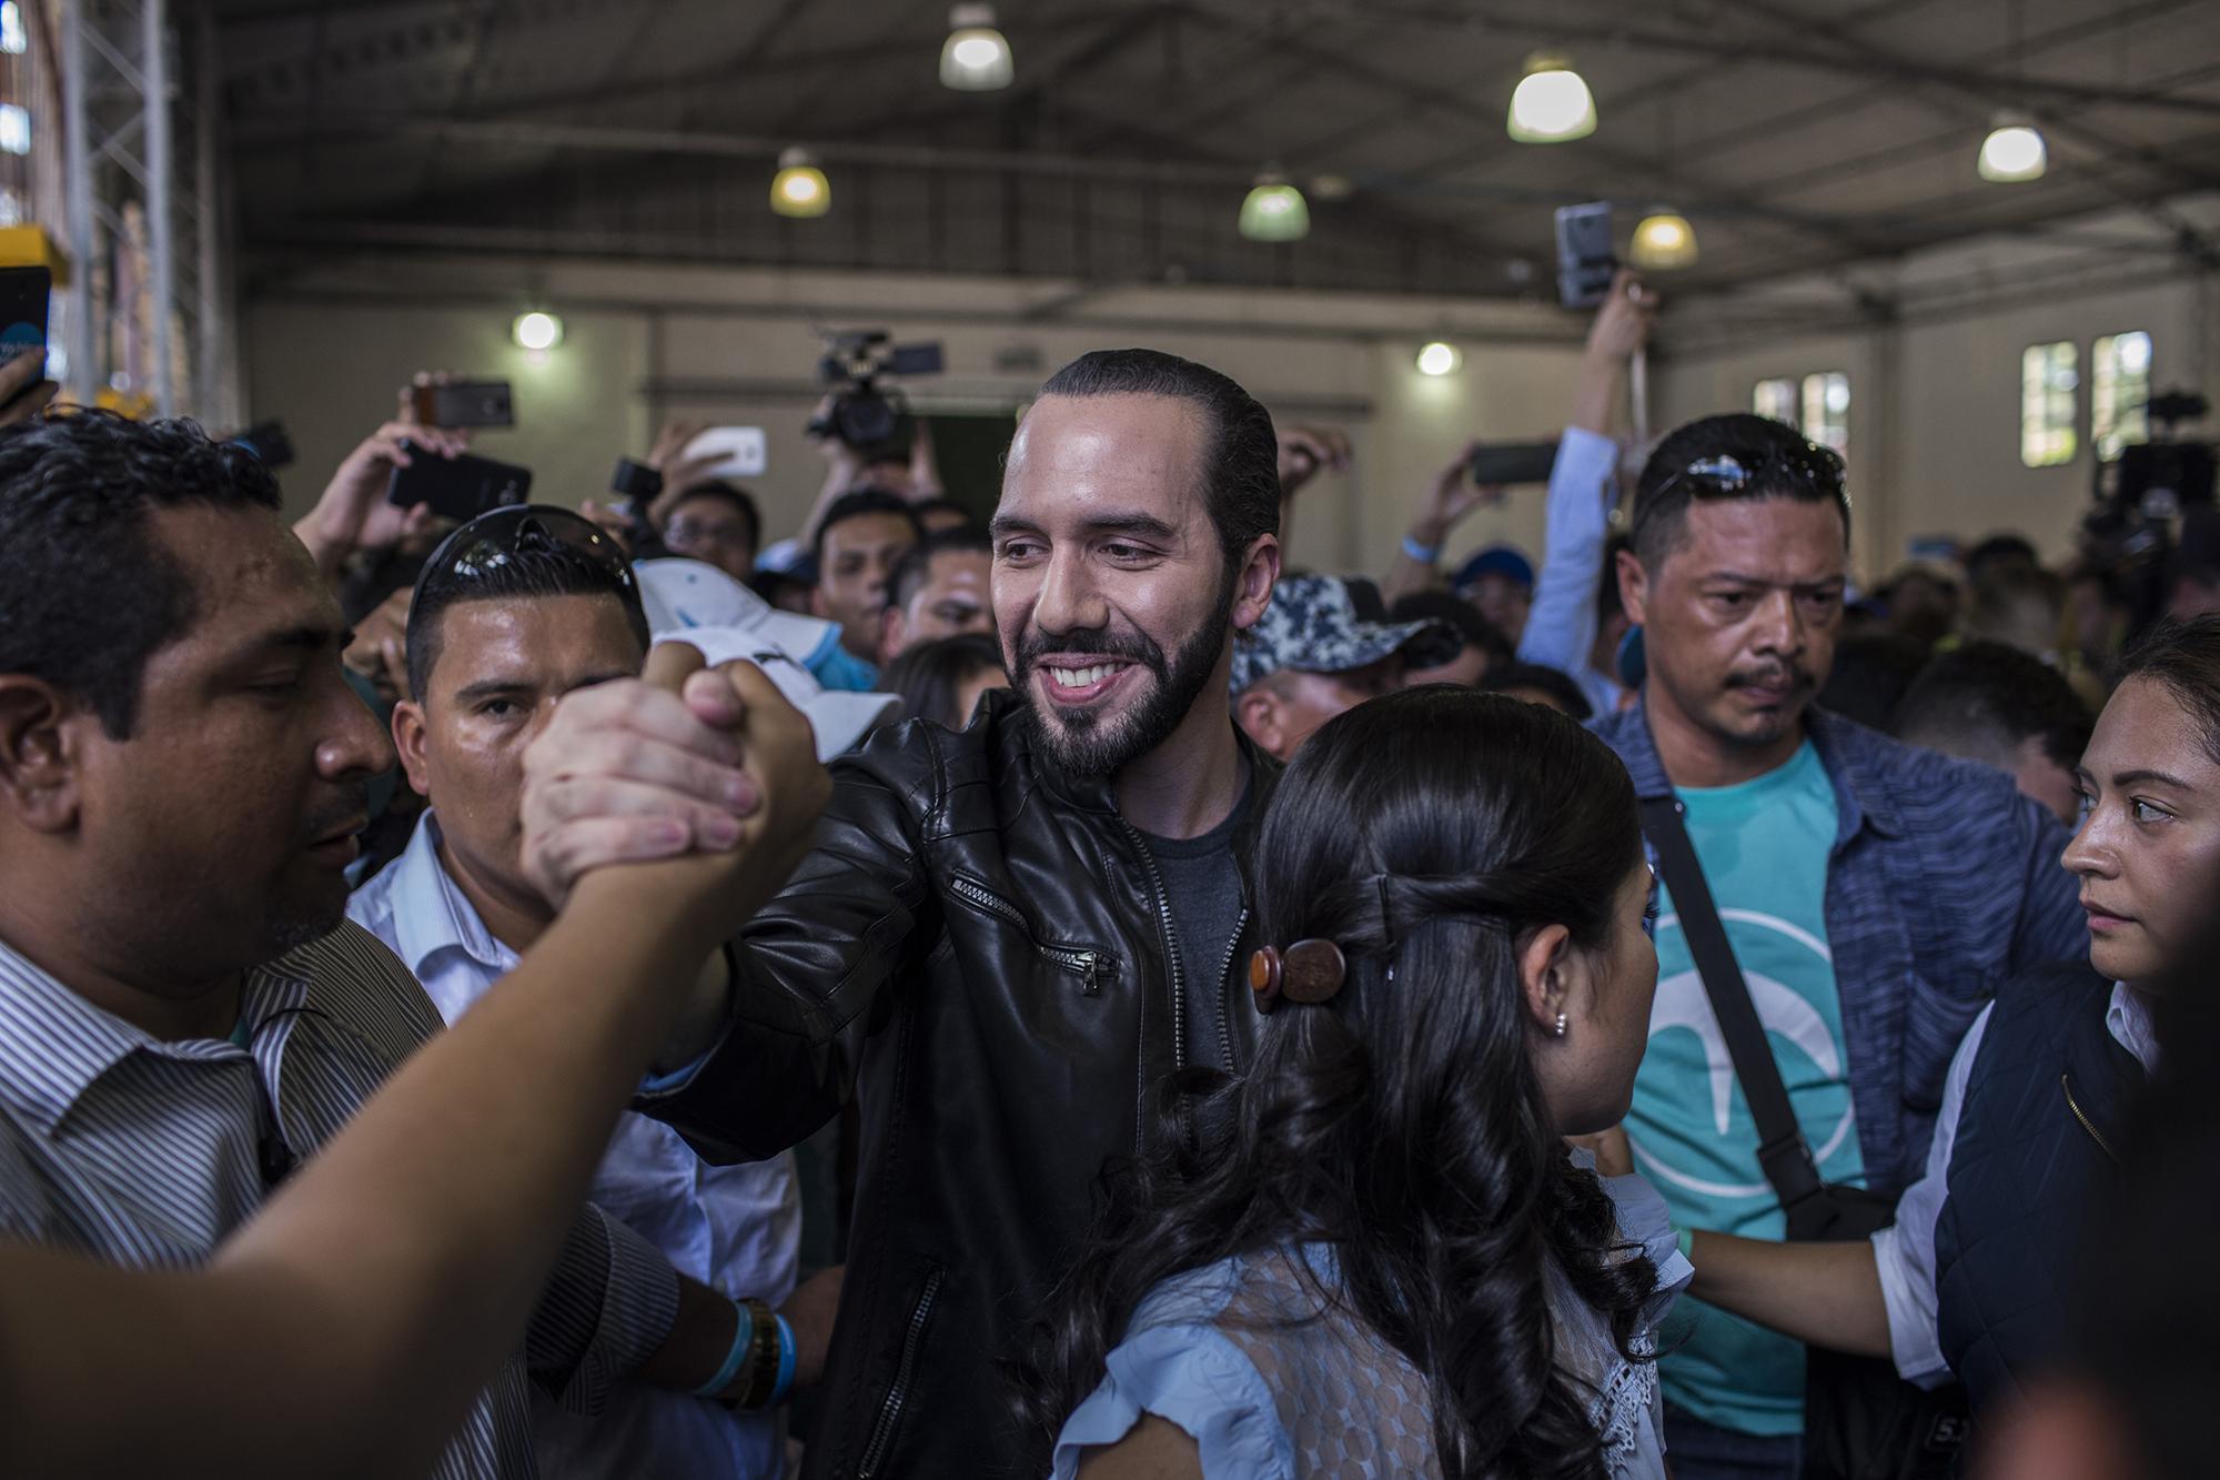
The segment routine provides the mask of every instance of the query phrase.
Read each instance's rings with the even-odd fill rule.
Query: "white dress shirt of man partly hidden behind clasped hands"
[[[448,1022],[517,964],[440,862],[431,811],[402,856],[355,891],[346,913],[393,947]],[[801,1198],[793,1153],[713,1167],[670,1127],[626,1113],[588,1196],[679,1273],[726,1296],[777,1307],[795,1289]],[[595,1420],[535,1404],[533,1429],[539,1471],[551,1478],[755,1480],[784,1469],[773,1418],[644,1384],[613,1391]]]

